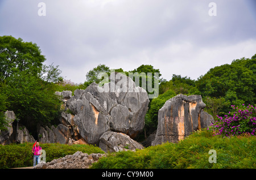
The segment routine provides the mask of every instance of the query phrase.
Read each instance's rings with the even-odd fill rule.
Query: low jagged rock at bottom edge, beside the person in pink
[[[106,156],[101,153],[82,153],[77,151],[73,155],[67,155],[62,158],[52,160],[51,162],[40,162],[34,166],[34,169],[87,169],[93,162],[99,160],[99,158]]]

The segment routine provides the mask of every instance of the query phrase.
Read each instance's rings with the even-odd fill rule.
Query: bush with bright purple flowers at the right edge
[[[232,105],[232,112],[229,112],[229,115],[217,117],[218,120],[208,128],[214,135],[256,135],[256,107],[253,105]]]

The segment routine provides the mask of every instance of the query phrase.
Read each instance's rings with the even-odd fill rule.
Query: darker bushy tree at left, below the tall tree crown
[[[26,74],[26,71],[7,78],[2,92],[7,96],[7,109],[14,110],[23,122],[47,123],[57,117],[60,100],[55,95],[54,84]]]

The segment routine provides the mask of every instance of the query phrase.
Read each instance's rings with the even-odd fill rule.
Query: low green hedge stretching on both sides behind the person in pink
[[[33,165],[32,143],[0,145],[0,168],[20,168]],[[94,145],[40,144],[46,151],[46,162],[73,155],[77,151],[84,153],[104,153]]]

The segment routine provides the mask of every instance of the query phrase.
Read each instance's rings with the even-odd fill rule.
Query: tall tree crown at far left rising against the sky
[[[0,80],[26,71],[27,74],[39,75],[43,62],[39,46],[32,42],[24,42],[22,38],[0,36]]]

